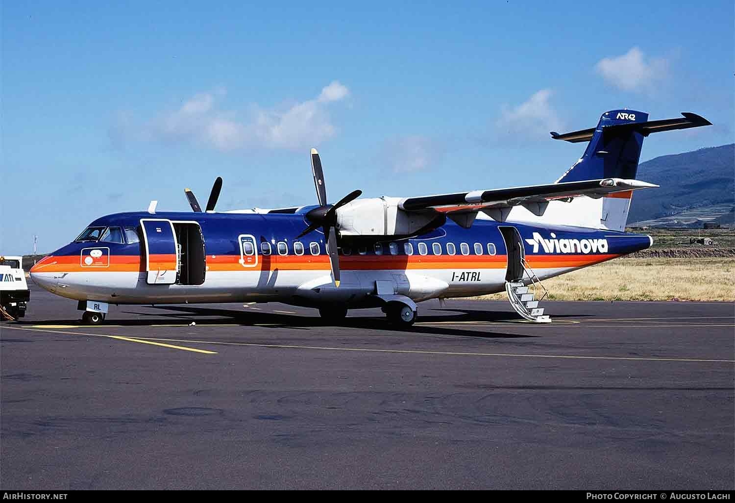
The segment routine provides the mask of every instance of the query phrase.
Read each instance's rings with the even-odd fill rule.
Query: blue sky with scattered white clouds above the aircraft
[[[93,218],[552,182],[584,146],[548,131],[628,107],[714,126],[642,159],[734,141],[732,1],[3,2],[0,250]],[[8,190],[10,180],[20,180]]]

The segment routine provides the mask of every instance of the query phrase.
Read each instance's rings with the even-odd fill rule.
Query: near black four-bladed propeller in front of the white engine
[[[324,172],[322,171],[321,159],[317,149],[312,149],[312,174],[314,175],[314,186],[317,190],[317,199],[319,206],[306,213],[306,220],[310,222],[309,226],[304,229],[296,238],[309,234],[315,229],[321,227],[324,231],[324,237],[327,240],[326,251],[329,254],[329,265],[331,267],[331,275],[334,277],[334,285],[340,286],[340,260],[337,256],[337,210],[357,199],[362,190],[354,190],[344,196],[337,204],[326,204],[326,185],[324,184]]]

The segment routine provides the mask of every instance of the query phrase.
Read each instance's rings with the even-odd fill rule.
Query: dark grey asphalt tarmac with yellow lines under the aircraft
[[[735,304],[111,307],[0,325],[2,489],[734,489]],[[196,325],[191,325],[195,322]]]

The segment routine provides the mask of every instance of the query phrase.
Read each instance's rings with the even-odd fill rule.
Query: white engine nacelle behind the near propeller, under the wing
[[[442,215],[406,212],[398,197],[355,199],[337,210],[337,229],[343,236],[412,236],[441,226]]]

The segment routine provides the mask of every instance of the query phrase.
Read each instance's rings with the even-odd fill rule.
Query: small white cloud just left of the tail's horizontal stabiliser
[[[503,105],[495,127],[501,137],[517,139],[548,138],[550,131],[564,129],[559,114],[549,102],[553,92],[542,89],[516,107]]]

